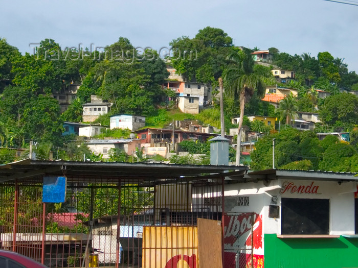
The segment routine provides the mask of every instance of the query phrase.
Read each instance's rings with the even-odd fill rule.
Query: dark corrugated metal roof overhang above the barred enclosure
[[[0,183],[38,181],[43,176],[65,176],[68,182],[119,182],[160,184],[205,179],[222,179],[227,175],[243,177],[246,166],[178,165],[163,163],[72,162],[23,160],[0,166]]]

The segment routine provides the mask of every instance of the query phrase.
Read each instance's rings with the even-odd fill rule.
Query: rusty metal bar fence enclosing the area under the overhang
[[[42,178],[0,184],[0,248],[49,267],[194,267],[197,218],[222,217],[221,178],[67,181],[46,204]]]

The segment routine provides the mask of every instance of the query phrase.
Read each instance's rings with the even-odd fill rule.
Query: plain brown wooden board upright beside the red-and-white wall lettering
[[[200,267],[222,268],[221,222],[198,218],[197,236]]]

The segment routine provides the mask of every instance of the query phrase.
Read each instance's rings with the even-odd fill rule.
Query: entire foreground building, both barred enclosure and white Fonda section
[[[112,267],[354,267],[357,182],[349,173],[24,160],[0,168],[0,248],[50,267],[94,254],[93,265]],[[71,230],[46,220],[52,202],[78,211]]]

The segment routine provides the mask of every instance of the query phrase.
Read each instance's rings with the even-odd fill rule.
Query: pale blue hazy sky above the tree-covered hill
[[[210,26],[225,31],[238,46],[276,47],[316,58],[328,51],[358,73],[358,6],[324,0],[2,2],[0,37],[23,54],[33,53],[29,44],[45,38],[65,48],[106,46],[120,36],[159,51],[173,39],[193,38]]]

